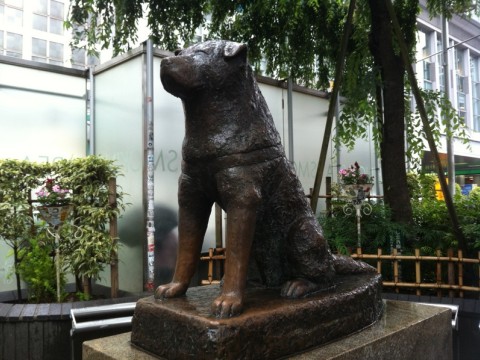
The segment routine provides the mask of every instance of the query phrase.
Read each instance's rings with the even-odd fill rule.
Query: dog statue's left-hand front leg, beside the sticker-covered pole
[[[185,294],[195,274],[203,238],[207,230],[212,204],[180,206],[178,221],[178,256],[175,273],[169,284],[155,290],[155,298],[170,298]]]

